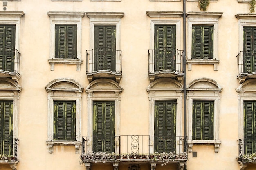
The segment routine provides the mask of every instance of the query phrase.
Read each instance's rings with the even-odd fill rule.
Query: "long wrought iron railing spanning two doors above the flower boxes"
[[[159,149],[159,141],[165,147]],[[170,147],[170,148],[168,148]],[[82,137],[82,153],[132,153],[187,152],[187,137],[158,137],[149,135],[120,135],[115,137]]]

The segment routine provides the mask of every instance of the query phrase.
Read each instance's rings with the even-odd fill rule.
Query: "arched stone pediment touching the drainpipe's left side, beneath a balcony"
[[[150,90],[177,90],[177,89],[183,89],[183,86],[180,82],[169,79],[169,78],[162,78],[157,79],[154,82],[150,83],[147,91]]]

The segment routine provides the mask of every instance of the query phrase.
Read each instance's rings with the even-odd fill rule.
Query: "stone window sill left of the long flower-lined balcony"
[[[48,152],[52,153],[53,152],[53,146],[54,145],[74,145],[76,148],[76,153],[79,153],[79,147],[81,145],[81,142],[79,141],[46,141]]]

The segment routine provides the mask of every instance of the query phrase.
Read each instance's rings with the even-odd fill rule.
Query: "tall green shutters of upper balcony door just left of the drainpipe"
[[[176,26],[155,25],[155,71],[176,68]]]

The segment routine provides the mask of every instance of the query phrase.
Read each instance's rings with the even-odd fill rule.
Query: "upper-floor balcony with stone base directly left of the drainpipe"
[[[148,50],[148,78],[150,83],[159,78],[172,78],[181,82],[183,50],[161,48]]]

